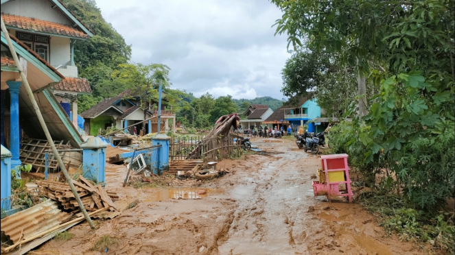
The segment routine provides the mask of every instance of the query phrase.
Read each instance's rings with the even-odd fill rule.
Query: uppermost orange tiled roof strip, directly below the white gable
[[[16,16],[12,14],[1,14],[5,25],[10,27],[17,27],[21,29],[32,30],[35,32],[43,32],[49,34],[60,34],[62,36],[71,36],[77,38],[89,39],[90,36],[82,32],[82,30],[70,25],[64,25],[60,23],[54,23],[51,21],[43,21],[40,19],[34,19],[24,16]]]

